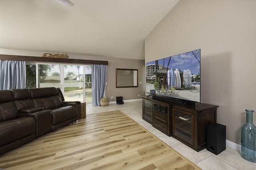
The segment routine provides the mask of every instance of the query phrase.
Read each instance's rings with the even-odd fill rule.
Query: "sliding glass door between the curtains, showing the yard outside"
[[[56,87],[66,101],[85,101],[92,104],[90,65],[26,64],[26,87]]]

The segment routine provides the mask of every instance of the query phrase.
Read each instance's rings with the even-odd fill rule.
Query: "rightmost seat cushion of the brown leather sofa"
[[[51,109],[52,113],[52,125],[56,125],[63,121],[77,117],[76,106],[62,106],[55,109]]]

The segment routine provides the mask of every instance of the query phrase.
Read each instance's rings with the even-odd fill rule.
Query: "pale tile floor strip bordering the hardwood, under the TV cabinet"
[[[109,104],[108,106],[86,106],[86,115],[114,110],[124,112],[134,121],[142,125],[142,127],[146,128],[156,137],[164,141],[167,145],[203,170],[256,170],[256,163],[244,160],[240,156],[239,151],[230,147],[226,147],[226,150],[218,155],[215,155],[206,149],[196,152],[173,137],[168,137],[142,119],[141,101],[124,102],[122,105]]]

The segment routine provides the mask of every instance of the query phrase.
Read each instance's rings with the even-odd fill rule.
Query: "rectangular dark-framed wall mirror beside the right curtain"
[[[138,87],[138,70],[116,68],[116,88]]]

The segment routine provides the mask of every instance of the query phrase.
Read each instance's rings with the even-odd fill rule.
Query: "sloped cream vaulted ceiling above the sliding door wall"
[[[144,59],[144,39],[178,0],[0,0],[0,48]]]

